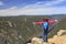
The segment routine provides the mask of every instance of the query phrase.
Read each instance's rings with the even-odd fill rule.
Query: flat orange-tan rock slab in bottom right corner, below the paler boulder
[[[54,38],[50,38],[48,43],[50,44],[66,44],[66,35],[63,36],[58,36],[58,37],[54,37]]]

